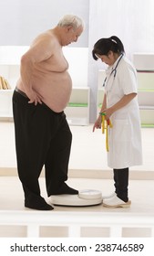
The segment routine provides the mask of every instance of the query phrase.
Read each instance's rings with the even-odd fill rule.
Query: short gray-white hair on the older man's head
[[[78,27],[83,27],[84,28],[84,22],[83,20],[78,17],[78,16],[74,16],[74,15],[66,15],[66,16],[63,16],[58,24],[57,24],[58,27],[67,27],[67,26],[72,26],[74,27],[75,29],[77,29]]]

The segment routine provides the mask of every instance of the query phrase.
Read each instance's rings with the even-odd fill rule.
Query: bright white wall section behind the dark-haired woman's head
[[[132,60],[134,52],[154,52],[153,0],[89,0],[88,86],[91,89],[90,121],[97,115],[98,69],[105,66],[92,59],[91,50],[101,37],[118,36]]]

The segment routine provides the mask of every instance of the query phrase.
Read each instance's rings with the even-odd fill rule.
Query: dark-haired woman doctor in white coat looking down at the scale
[[[108,128],[108,166],[113,168],[115,192],[103,199],[103,205],[128,208],[128,168],[142,164],[136,69],[125,57],[124,46],[116,36],[99,39],[92,55],[108,64],[104,99],[93,126],[93,132],[101,128],[102,112],[112,123]]]

